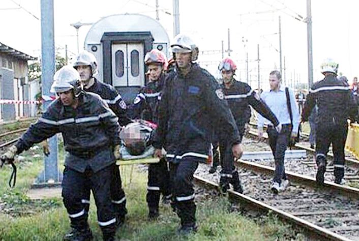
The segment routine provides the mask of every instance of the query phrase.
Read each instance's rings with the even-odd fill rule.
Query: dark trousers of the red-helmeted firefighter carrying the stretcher
[[[148,166],[147,204],[149,210],[158,210],[161,193],[169,198],[171,195],[168,164],[165,158]]]

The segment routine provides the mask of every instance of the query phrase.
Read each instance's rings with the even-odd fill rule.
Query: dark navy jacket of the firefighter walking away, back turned
[[[349,86],[334,75],[313,84],[302,113],[303,121],[308,120],[315,105],[318,106],[317,124],[346,125],[347,118],[354,120],[357,114],[355,99]]]

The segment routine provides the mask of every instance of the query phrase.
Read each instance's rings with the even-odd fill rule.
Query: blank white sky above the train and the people
[[[0,0],[0,42],[33,56],[40,56],[40,20],[19,8],[14,2],[38,18],[40,0]],[[75,22],[96,22],[111,14],[140,13],[156,18],[155,0],[54,0],[55,46],[65,56],[77,53]],[[172,1],[159,0],[160,22],[173,37]],[[339,63],[339,72],[349,81],[359,75],[359,21],[356,0],[313,0],[313,67],[314,81],[321,79],[319,66],[325,57]],[[15,9],[14,9],[15,8]],[[278,11],[279,9],[279,11]],[[258,13],[258,12],[267,13]],[[167,13],[165,13],[167,12]],[[168,14],[169,13],[169,14]],[[286,59],[286,79],[307,82],[307,24],[295,20],[306,17],[306,0],[180,0],[180,30],[190,35],[200,50],[220,50],[221,41],[228,48],[227,29],[230,28],[231,57],[237,62],[237,78],[246,81],[245,57],[248,51],[250,79],[258,86],[257,44],[260,47],[260,76],[267,88],[268,73],[279,68],[279,23],[282,21],[282,52]],[[145,24],[145,23],[144,23]],[[79,31],[80,48],[90,26]],[[242,39],[247,39],[246,47]],[[225,56],[227,54],[225,53]],[[201,66],[215,76],[221,54],[200,56]],[[283,62],[284,67],[284,62]]]

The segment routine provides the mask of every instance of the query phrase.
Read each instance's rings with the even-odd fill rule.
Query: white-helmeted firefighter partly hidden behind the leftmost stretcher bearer
[[[100,82],[96,79],[95,76],[98,75],[97,61],[96,57],[92,53],[86,50],[80,52],[74,59],[73,67],[77,70],[81,77],[84,90],[86,92],[98,94],[117,115],[118,124],[120,126],[126,126],[132,122],[126,114],[126,103],[122,99],[121,95],[117,93],[116,89],[113,86]],[[111,200],[115,206],[117,218],[121,220],[122,224],[125,221],[125,215],[127,214],[126,196],[122,189],[119,168],[117,167],[113,169],[113,171]],[[88,188],[87,193],[85,193],[85,196],[82,199],[82,201],[87,205],[86,212],[88,212],[89,209],[90,195],[91,192]]]

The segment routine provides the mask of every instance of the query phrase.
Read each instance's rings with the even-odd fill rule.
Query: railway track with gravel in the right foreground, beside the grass
[[[244,194],[229,191],[229,197],[254,212],[272,212],[285,222],[301,227],[313,240],[359,240],[359,189],[288,172],[290,186],[279,195],[270,191],[274,168],[238,161]],[[219,172],[208,173],[201,165],[197,184],[217,189]]]

